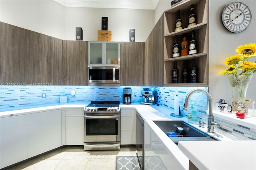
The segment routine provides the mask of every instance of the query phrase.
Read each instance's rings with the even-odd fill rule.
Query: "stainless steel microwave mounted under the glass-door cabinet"
[[[120,86],[120,67],[88,66],[88,85]]]

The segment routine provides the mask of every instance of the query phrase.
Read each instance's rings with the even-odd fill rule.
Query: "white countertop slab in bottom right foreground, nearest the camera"
[[[256,169],[255,140],[179,142],[179,148],[198,169]]]

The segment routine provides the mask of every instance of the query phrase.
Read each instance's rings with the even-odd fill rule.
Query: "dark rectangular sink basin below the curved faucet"
[[[182,127],[182,134],[170,139],[178,146],[179,141],[195,141],[195,140],[217,140],[208,134],[190,126],[184,121],[153,121],[166,135],[167,132],[173,131],[178,134],[177,127]]]

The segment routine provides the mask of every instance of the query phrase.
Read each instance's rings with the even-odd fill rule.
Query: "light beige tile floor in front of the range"
[[[93,151],[84,151],[82,146],[63,147],[8,170],[115,170],[116,156],[136,156],[135,147]]]

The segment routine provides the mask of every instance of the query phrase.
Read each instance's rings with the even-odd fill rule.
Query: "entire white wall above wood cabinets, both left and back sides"
[[[136,29],[136,42],[145,42],[154,27],[154,10],[70,8],[52,0],[1,0],[0,21],[28,30],[75,40],[82,27],[83,40],[97,41],[101,17],[108,17],[112,41],[129,41],[129,29]]]

